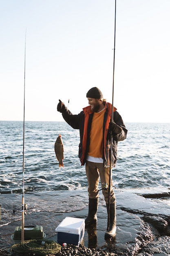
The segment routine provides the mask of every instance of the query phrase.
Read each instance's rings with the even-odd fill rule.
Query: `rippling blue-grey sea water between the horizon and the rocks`
[[[114,186],[170,187],[170,124],[127,123],[126,128],[127,138],[118,143]],[[0,121],[0,134],[1,194],[22,192],[23,162],[25,193],[87,189],[85,166],[78,158],[79,130],[64,121],[26,121],[23,136],[22,121]],[[54,151],[59,134],[64,144],[61,169]]]

